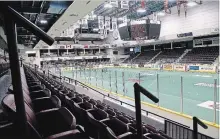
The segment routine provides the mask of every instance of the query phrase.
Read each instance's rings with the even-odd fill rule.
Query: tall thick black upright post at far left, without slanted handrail
[[[27,131],[27,117],[24,106],[23,89],[21,83],[21,73],[19,66],[17,39],[16,39],[16,24],[11,14],[7,11],[5,13],[5,31],[7,34],[9,60],[12,76],[12,85],[14,91],[14,99],[16,104],[16,129],[18,130],[19,138],[26,139],[28,136]]]

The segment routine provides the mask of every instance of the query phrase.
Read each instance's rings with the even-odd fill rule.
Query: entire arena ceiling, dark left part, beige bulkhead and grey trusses
[[[143,7],[143,1],[146,12],[138,13],[137,9]],[[129,1],[129,9],[119,8],[120,1],[118,7],[106,8],[104,6],[106,0],[9,1],[7,3],[52,37],[59,36],[62,31],[91,11],[97,16],[119,18],[126,15],[129,19],[139,19],[164,10],[164,0]],[[168,9],[173,6],[176,6],[176,0],[168,0]],[[84,10],[81,7],[84,7]],[[18,43],[24,46],[33,48],[43,44],[22,25],[17,25],[17,35]]]

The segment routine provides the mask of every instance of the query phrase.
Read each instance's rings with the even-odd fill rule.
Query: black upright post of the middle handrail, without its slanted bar
[[[134,86],[135,110],[136,110],[136,128],[137,139],[142,139],[142,123],[141,123],[141,97],[140,90]]]

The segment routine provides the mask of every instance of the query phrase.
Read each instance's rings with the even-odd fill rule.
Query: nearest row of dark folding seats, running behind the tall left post
[[[31,139],[86,139],[83,128],[76,125],[73,114],[65,107],[57,96],[51,95],[39,80],[30,72],[27,78],[21,68],[22,89],[25,112]],[[14,123],[17,120],[13,86],[2,100],[2,108],[7,122],[0,125],[0,138],[14,139],[18,134]]]

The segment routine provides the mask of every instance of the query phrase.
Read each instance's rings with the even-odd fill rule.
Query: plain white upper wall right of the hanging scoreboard
[[[187,17],[183,6],[178,16],[177,7],[171,9],[172,14],[161,17],[162,39],[176,38],[177,34],[193,32],[194,36],[210,34],[213,28],[219,28],[219,2],[203,1],[203,4],[188,7]]]

